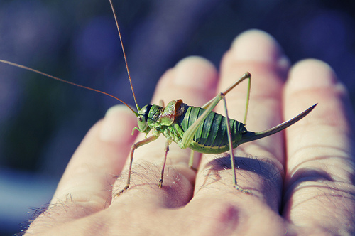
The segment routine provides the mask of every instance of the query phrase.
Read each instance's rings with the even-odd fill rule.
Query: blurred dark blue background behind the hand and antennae
[[[170,67],[201,55],[219,67],[242,31],[271,33],[292,63],[318,58],[355,96],[355,1],[114,0],[142,106]],[[0,59],[133,104],[109,1],[1,0]],[[236,75],[238,77],[239,75]],[[0,64],[0,235],[48,203],[111,97]],[[25,224],[26,225],[26,224]]]

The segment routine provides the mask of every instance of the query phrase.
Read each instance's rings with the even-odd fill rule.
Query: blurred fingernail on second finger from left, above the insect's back
[[[208,89],[215,85],[217,70],[214,65],[204,58],[190,56],[180,60],[175,65],[175,85]]]

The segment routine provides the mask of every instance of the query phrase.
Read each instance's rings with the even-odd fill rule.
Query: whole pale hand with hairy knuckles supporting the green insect
[[[175,144],[158,189],[161,136],[136,150],[131,186],[115,198],[126,184],[124,163],[137,135],[131,136],[136,117],[118,106],[89,130],[48,210],[27,234],[354,235],[354,114],[329,65],[302,60],[289,67],[271,36],[246,31],[225,53],[220,73],[207,60],[185,58],[160,79],[152,104],[181,98],[201,106],[247,70],[251,131],[280,124],[318,102],[285,132],[234,149],[238,184],[253,195],[233,188],[226,154],[198,156],[195,172],[187,166],[190,151]],[[229,117],[241,121],[246,82],[226,102]],[[216,111],[224,114],[223,106]],[[136,141],[143,138],[139,134]]]

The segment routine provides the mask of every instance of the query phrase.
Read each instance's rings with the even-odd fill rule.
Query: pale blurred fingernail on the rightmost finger
[[[334,87],[338,83],[334,70],[321,60],[307,59],[290,70],[288,86],[293,90],[315,87]]]

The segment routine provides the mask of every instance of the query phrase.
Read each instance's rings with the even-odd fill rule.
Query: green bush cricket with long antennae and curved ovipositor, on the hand
[[[191,107],[182,102],[182,100],[173,100],[167,104],[166,107],[163,106],[163,102],[160,105],[148,104],[144,107],[139,107],[138,103],[136,102],[136,95],[133,91],[133,86],[131,82],[131,75],[129,73],[129,67],[126,60],[126,53],[124,51],[124,45],[121,38],[121,32],[119,30],[119,24],[116,18],[116,13],[114,11],[114,6],[112,1],[109,0],[111,4],[111,9],[114,14],[114,19],[116,21],[117,31],[119,33],[119,40],[121,42],[121,48],[124,55],[124,60],[126,64],[126,70],[129,77],[129,82],[131,86],[131,91],[133,95],[134,102],[136,104],[136,109],[132,109],[126,102],[120,100],[118,97],[114,95],[110,95],[107,92],[102,92],[99,90],[95,90],[91,87],[86,87],[83,85],[78,85],[73,82],[69,82],[67,80],[62,80],[58,77],[54,77],[52,75],[48,75],[46,73],[40,72],[38,70],[28,68],[24,65],[18,65],[16,63],[11,63],[7,60],[0,60],[1,63],[6,63],[9,65],[16,66],[18,68],[23,68],[25,70],[31,70],[35,73],[40,75],[44,75],[46,77],[50,77],[54,80],[59,80],[61,82],[66,82],[70,85],[75,85],[77,87],[83,87],[87,90],[93,90],[95,92],[102,93],[104,95],[108,95],[113,97],[116,100],[119,100],[126,107],[129,107],[133,114],[136,115],[138,120],[138,126],[133,128],[132,134],[134,130],[138,130],[139,132],[146,134],[146,139],[142,141],[138,141],[131,147],[131,154],[130,154],[130,163],[129,163],[129,174],[126,182],[126,186],[119,191],[116,195],[121,195],[124,193],[131,182],[131,170],[132,170],[132,163],[133,163],[133,153],[134,151],[145,144],[148,144],[152,141],[158,139],[160,134],[163,134],[166,138],[165,142],[165,158],[163,161],[163,168],[160,172],[160,179],[158,182],[158,188],[162,188],[163,186],[163,176],[164,176],[164,168],[166,159],[168,156],[169,145],[174,141],[181,149],[190,148],[192,150],[189,166],[192,168],[193,163],[193,154],[194,151],[203,153],[203,154],[222,154],[225,151],[230,152],[231,157],[231,168],[233,170],[233,178],[234,178],[234,187],[243,192],[243,193],[251,193],[251,191],[241,188],[236,181],[236,164],[234,159],[233,149],[235,149],[240,144],[244,144],[249,141],[253,141],[256,139],[261,139],[266,136],[270,136],[281,130],[289,127],[295,122],[298,122],[300,119],[305,117],[309,114],[312,109],[315,108],[315,105],[306,109],[304,112],[298,114],[293,119],[288,120],[287,122],[283,122],[282,124],[278,124],[277,126],[267,129],[263,132],[249,132],[246,130],[245,123],[246,117],[249,108],[249,97],[250,97],[250,90],[251,90],[251,74],[245,73],[239,80],[234,82],[233,85],[228,87],[223,92],[220,92],[219,95],[214,97],[212,100],[204,104],[202,107]],[[230,92],[236,85],[239,85],[240,82],[248,80],[248,92],[246,96],[246,110],[244,115],[244,123],[238,122],[234,119],[229,119],[228,110],[226,108],[226,100],[225,95]],[[224,101],[224,110],[225,114],[217,114],[212,110],[217,104],[223,100]],[[148,134],[151,133],[151,136]]]

